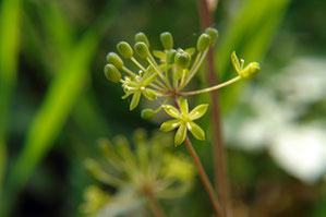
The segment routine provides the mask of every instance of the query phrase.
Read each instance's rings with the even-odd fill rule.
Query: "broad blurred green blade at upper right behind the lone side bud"
[[[233,50],[246,62],[261,61],[268,50],[290,0],[246,0],[237,15],[230,21],[229,28],[221,37],[216,61],[220,82],[236,75],[230,56]],[[222,110],[227,111],[243,91],[245,82],[231,85],[221,92]]]

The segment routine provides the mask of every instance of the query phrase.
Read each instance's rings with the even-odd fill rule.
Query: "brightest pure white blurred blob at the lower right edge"
[[[313,183],[326,171],[325,131],[314,126],[288,129],[271,141],[269,153],[290,174]]]

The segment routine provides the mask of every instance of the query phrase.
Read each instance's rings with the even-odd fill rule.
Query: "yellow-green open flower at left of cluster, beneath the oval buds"
[[[148,68],[145,73],[141,70],[140,75],[136,76],[125,76],[124,80],[122,80],[122,87],[125,92],[125,95],[122,97],[125,99],[130,95],[133,95],[131,104],[130,104],[130,110],[133,110],[137,107],[142,94],[148,99],[148,100],[155,100],[157,97],[157,93],[147,86],[155,81],[157,77],[157,73],[153,73],[150,68]]]

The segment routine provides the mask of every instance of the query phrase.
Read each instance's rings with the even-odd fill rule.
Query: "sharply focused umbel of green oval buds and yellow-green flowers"
[[[215,45],[217,37],[218,31],[216,28],[209,27],[198,37],[196,48],[174,49],[172,35],[168,32],[165,32],[160,34],[160,41],[164,49],[153,50],[153,52],[150,52],[149,40],[147,36],[144,33],[138,33],[134,37],[135,44],[133,48],[126,41],[121,41],[117,45],[120,56],[133,62],[138,68],[138,71],[134,72],[128,69],[119,55],[116,52],[109,52],[107,55],[108,64],[105,65],[105,74],[109,81],[114,83],[120,82],[122,84],[123,91],[125,93],[125,95],[122,97],[123,99],[132,96],[130,110],[133,110],[137,107],[142,95],[144,95],[148,100],[155,100],[157,97],[164,97],[166,98],[164,104],[160,104],[156,110],[144,109],[142,111],[142,117],[144,119],[149,119],[162,108],[168,114],[171,116],[169,110],[171,110],[170,108],[172,106],[168,105],[169,100],[174,101],[174,109],[179,110],[177,100],[179,97],[216,91],[237,82],[240,79],[252,79],[259,72],[259,64],[257,62],[252,62],[244,68],[244,61],[241,59],[240,64],[239,59],[233,52],[231,59],[238,73],[237,77],[205,89],[182,92],[198,72],[209,47]],[[138,58],[147,62],[146,65],[141,64],[136,60],[134,52]],[[125,73],[123,77],[121,72]],[[181,99],[181,101],[185,100]],[[185,136],[183,135],[186,134],[186,129],[192,132],[196,138],[204,140],[205,135],[203,134],[202,129],[197,128],[197,125],[194,126],[195,123],[192,122],[192,120],[184,121],[185,116],[182,111],[180,111],[179,114],[180,117],[183,117],[177,118],[180,124],[178,122],[178,124],[174,124],[173,128],[166,128],[167,123],[161,125],[161,130],[172,130],[177,126],[180,126],[178,130],[180,133],[176,134],[176,145],[180,145],[184,141]],[[177,116],[171,117],[176,118]],[[179,134],[181,134],[181,136],[179,136]]]

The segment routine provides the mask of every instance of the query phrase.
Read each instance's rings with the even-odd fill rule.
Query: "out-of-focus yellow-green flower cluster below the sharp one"
[[[96,180],[113,191],[95,185],[86,189],[83,213],[116,216],[142,209],[147,194],[173,198],[186,193],[193,184],[194,166],[185,156],[173,154],[171,143],[170,135],[156,132],[148,138],[144,130],[134,132],[134,145],[124,136],[114,137],[112,143],[101,138],[104,159],[87,159],[85,165]]]

